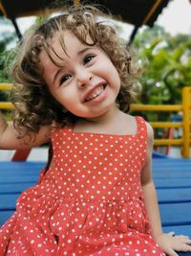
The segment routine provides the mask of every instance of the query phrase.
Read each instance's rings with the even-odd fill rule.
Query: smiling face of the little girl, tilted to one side
[[[57,37],[53,39],[53,60],[46,51],[40,54],[53,98],[76,116],[103,115],[116,106],[120,88],[116,67],[100,48],[83,44],[72,32],[66,31],[63,39],[65,50]]]

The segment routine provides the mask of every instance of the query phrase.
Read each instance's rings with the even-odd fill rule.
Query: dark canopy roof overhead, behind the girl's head
[[[65,0],[62,0],[65,2]],[[109,9],[124,22],[135,26],[134,34],[142,25],[153,26],[159,13],[172,0],[91,0],[88,3],[100,4]],[[20,35],[16,17],[43,14],[46,8],[51,7],[53,0],[0,0],[0,15],[6,15],[11,19],[17,35]],[[80,1],[67,1],[77,4]],[[133,37],[134,35],[132,35]]]

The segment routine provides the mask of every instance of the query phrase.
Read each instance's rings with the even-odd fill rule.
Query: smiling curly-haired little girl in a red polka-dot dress
[[[53,158],[1,227],[0,255],[191,251],[188,237],[161,231],[153,131],[125,113],[136,72],[114,26],[98,15],[88,6],[65,10],[20,46],[13,125],[1,116],[0,148],[51,142]]]

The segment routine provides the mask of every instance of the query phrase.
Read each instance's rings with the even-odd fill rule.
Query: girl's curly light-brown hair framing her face
[[[67,7],[61,14],[35,25],[24,37],[12,69],[14,85],[11,91],[11,101],[15,106],[13,124],[20,137],[36,133],[44,125],[65,126],[79,118],[65,111],[53,99],[39,68],[42,50],[47,52],[53,63],[59,65],[50,54],[54,51],[52,40],[57,36],[64,49],[62,35],[66,30],[70,30],[84,44],[88,44],[87,36],[90,36],[93,45],[111,58],[121,81],[117,105],[124,112],[129,110],[138,69],[133,65],[130,51],[117,35],[115,27],[108,21],[98,21],[97,16],[112,18],[92,6]]]

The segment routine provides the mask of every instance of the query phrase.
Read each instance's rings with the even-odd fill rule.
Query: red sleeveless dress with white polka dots
[[[147,130],[136,120],[136,135],[54,128],[53,165],[18,198],[0,229],[0,255],[165,255],[145,212]]]

